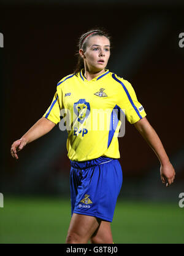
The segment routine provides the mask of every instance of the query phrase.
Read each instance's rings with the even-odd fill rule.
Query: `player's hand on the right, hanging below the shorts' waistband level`
[[[175,170],[171,162],[168,162],[166,165],[161,165],[160,175],[163,183],[166,183],[166,186],[171,185],[174,182]]]

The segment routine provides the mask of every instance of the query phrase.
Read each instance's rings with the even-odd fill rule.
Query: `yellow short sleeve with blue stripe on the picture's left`
[[[62,92],[56,90],[52,103],[48,107],[43,117],[54,122],[55,124],[58,124],[58,122],[60,121],[60,111],[62,107],[61,102],[62,102]]]

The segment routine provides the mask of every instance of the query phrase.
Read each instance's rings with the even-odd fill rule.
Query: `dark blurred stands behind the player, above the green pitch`
[[[126,121],[119,138],[122,198],[178,201],[184,189],[182,1],[2,1],[0,32],[1,178],[10,195],[69,198],[66,132],[56,126],[16,161],[10,146],[47,110],[57,82],[73,73],[80,34],[102,26],[112,36],[108,68],[131,82],[176,171],[165,188],[159,161]]]

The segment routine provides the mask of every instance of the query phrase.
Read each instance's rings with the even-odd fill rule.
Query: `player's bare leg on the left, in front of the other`
[[[100,225],[101,220],[88,215],[73,214],[66,244],[86,244]]]

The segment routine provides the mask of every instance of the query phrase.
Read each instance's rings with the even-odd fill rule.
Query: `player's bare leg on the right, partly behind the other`
[[[91,244],[112,244],[112,232],[110,228],[110,222],[101,221],[97,230],[94,231],[90,238]]]

